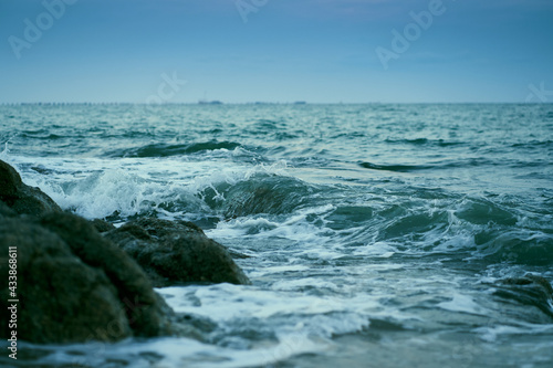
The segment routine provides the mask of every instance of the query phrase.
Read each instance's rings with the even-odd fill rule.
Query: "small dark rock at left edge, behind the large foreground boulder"
[[[18,171],[0,160],[0,201],[20,214],[41,215],[62,209],[39,188],[23,183]]]

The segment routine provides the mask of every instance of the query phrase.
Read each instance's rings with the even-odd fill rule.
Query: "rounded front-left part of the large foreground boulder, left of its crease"
[[[0,220],[0,251],[17,246],[18,338],[32,343],[118,340],[132,335],[125,306],[102,269],[76,257],[54,232],[30,219]],[[8,262],[0,264],[8,275]],[[2,338],[7,338],[8,277],[0,278]]]

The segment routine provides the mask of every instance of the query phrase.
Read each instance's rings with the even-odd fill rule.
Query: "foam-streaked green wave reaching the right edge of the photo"
[[[551,225],[529,208],[479,198],[388,197],[394,203],[336,206],[324,217],[324,227],[342,233],[336,241],[355,245],[359,255],[448,254],[463,262],[553,264]]]

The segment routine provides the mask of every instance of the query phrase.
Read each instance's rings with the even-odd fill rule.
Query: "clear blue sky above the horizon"
[[[0,0],[0,103],[553,102],[553,0]]]

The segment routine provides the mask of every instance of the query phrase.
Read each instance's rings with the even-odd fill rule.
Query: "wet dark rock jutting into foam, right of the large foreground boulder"
[[[105,234],[143,266],[154,286],[250,284],[225,246],[191,222],[145,218]]]

